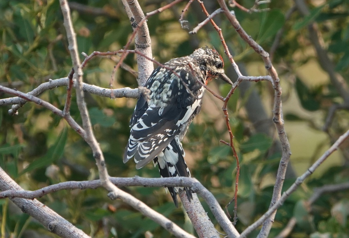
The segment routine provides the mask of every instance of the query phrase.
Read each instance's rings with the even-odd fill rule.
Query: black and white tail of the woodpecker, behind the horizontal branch
[[[154,166],[158,165],[162,178],[190,177],[190,171],[184,161],[184,155],[182,144],[174,139],[161,154],[154,158]],[[179,189],[184,189],[189,200],[193,199],[192,192],[187,187],[168,187],[168,189],[176,207],[178,207],[177,192]]]

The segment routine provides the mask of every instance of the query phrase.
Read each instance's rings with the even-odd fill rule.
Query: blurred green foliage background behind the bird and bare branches
[[[93,51],[122,49],[132,34],[132,28],[121,2],[108,0],[79,2],[104,9],[102,15],[72,10],[79,52],[89,54]],[[158,2],[140,1],[144,12],[150,12],[164,5]],[[252,7],[253,2],[245,0],[240,1],[240,4],[248,8]],[[296,12],[290,19],[285,19],[284,14],[292,4],[292,1],[273,1],[268,6],[271,10],[252,14],[239,9],[234,10],[247,33],[267,51],[272,46],[277,31],[284,27],[280,46],[274,55],[274,66],[279,72],[283,92],[286,95],[283,98],[285,124],[298,123],[297,128],[303,123],[321,132],[329,107],[342,103],[343,98],[329,83],[326,72],[321,70],[317,55],[307,39],[306,26],[311,21],[319,24],[319,30],[325,45],[328,46],[337,73],[349,83],[347,80],[349,6],[346,1],[341,0],[327,1],[322,5],[310,3],[309,16],[302,17]],[[184,6],[185,2],[149,18],[148,26],[155,59],[165,62],[173,57],[188,55],[195,48],[205,45],[214,46],[223,55],[221,40],[210,25],[206,25],[194,36],[188,35],[186,30],[180,28],[178,19]],[[214,2],[207,7],[209,12],[218,8]],[[261,8],[263,7],[266,6],[262,5]],[[186,14],[191,28],[205,19],[197,9],[199,5],[194,2]],[[235,55],[235,60],[244,63],[249,74],[264,75],[264,69],[260,70],[256,63],[261,62],[259,55],[237,36],[224,16],[215,17],[215,21],[220,25],[224,38]],[[18,90],[28,92],[48,79],[58,79],[68,74],[72,63],[59,1],[1,1],[0,25],[1,84],[8,87],[16,84]],[[223,58],[228,69],[229,61],[225,55]],[[313,61],[315,67],[310,65]],[[137,69],[134,55],[128,55],[124,62]],[[84,68],[84,81],[107,88],[115,64],[111,58],[93,58]],[[309,66],[306,68],[308,74],[300,73],[299,68],[303,66]],[[314,75],[319,74],[326,80],[318,82],[317,76]],[[123,69],[118,70],[116,79],[114,88],[137,87],[134,76]],[[215,84],[220,82],[212,82],[210,85],[215,87]],[[269,102],[270,98],[273,99],[273,92],[269,93],[270,85],[267,82],[252,85],[251,90],[257,89],[263,101]],[[218,86],[217,90],[225,96],[229,86]],[[290,99],[292,95],[293,99]],[[0,96],[9,97],[3,93],[0,93]],[[244,230],[268,209],[274,176],[281,156],[280,151],[275,150],[277,136],[271,138],[266,134],[256,133],[255,128],[259,125],[250,123],[244,110],[248,96],[249,94],[242,96],[237,89],[228,104],[230,124],[241,166],[236,225],[239,231]],[[65,87],[47,91],[40,96],[60,109],[64,107],[65,97]],[[80,123],[75,100],[73,93],[70,114]],[[110,175],[159,177],[158,170],[152,165],[136,170],[132,161],[127,164],[122,163],[122,154],[129,133],[128,122],[135,99],[112,100],[86,95],[86,101]],[[184,139],[186,160],[193,177],[213,192],[224,207],[234,194],[236,161],[230,148],[219,143],[220,139],[228,138],[223,113],[220,110],[222,105],[207,95],[205,101],[212,101],[214,105],[209,109],[203,107],[198,119],[190,126]],[[294,109],[295,105],[299,106]],[[268,113],[269,107],[266,105]],[[0,108],[0,166],[24,189],[35,190],[62,181],[97,178],[98,171],[90,148],[64,120],[34,103],[25,104],[19,110],[18,116],[14,117],[8,115],[8,109],[8,106]],[[269,115],[271,122],[272,114]],[[341,110],[335,114],[322,150],[327,149],[331,142],[348,129],[348,118],[348,111]],[[273,125],[271,128],[274,129]],[[296,136],[297,133],[302,137],[303,133],[308,132],[300,129],[287,133],[291,136]],[[314,150],[314,155],[317,155],[316,148],[322,142],[315,139],[308,142],[309,144],[304,145],[305,148],[302,149],[292,147],[291,143],[291,150],[300,150],[298,154],[301,155]],[[345,152],[346,147],[342,149]],[[290,196],[278,210],[270,237],[275,237],[292,217],[296,218],[296,226],[290,237],[348,237],[348,191],[324,194],[311,207],[306,206],[306,201],[313,194],[314,188],[348,181],[348,154],[344,152],[337,155],[340,158],[339,164],[327,163],[324,172],[312,176]],[[291,157],[292,165],[297,168],[296,174],[306,171],[307,166],[314,160],[312,157],[301,157],[303,156]],[[297,162],[300,161],[306,163],[302,169],[297,167]],[[295,178],[286,179],[284,188],[287,189],[294,180]],[[163,188],[122,189],[169,217],[187,231],[193,232],[192,226],[185,220],[185,212],[180,208],[176,209]],[[127,204],[107,199],[106,194],[102,188],[59,191],[39,200],[92,237],[144,237],[146,231],[150,231],[155,237],[170,236],[158,224],[143,217]],[[203,203],[203,206],[216,224],[207,205]],[[232,214],[233,206],[229,206],[228,210]],[[30,237],[28,232],[35,231],[38,237],[43,235],[54,237],[28,215],[14,209],[7,199],[0,200],[0,211],[1,224],[4,224],[2,232],[6,232],[7,236]],[[217,229],[220,229],[218,225]],[[257,236],[257,233],[258,231],[255,231],[250,237]]]

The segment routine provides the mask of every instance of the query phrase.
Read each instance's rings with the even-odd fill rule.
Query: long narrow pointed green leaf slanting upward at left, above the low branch
[[[57,140],[54,142],[54,144],[47,150],[47,153],[45,156],[35,160],[27,168],[25,168],[20,175],[32,171],[34,169],[43,168],[47,165],[52,164],[54,161],[59,159],[64,152],[64,146],[67,141],[67,128],[64,128],[63,131],[59,134],[57,137]]]

